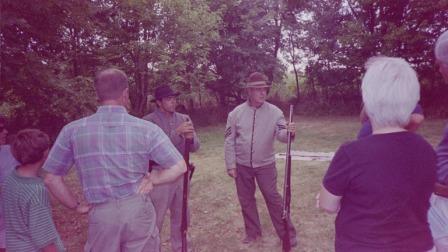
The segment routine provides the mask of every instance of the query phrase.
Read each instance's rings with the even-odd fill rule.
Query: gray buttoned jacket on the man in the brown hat
[[[287,142],[286,120],[275,105],[264,102],[259,108],[249,102],[229,113],[225,132],[227,169],[236,164],[262,167],[275,162],[274,140]]]

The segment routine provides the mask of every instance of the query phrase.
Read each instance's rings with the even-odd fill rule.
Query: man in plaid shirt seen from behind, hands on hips
[[[177,179],[185,162],[159,127],[127,113],[124,72],[101,71],[94,85],[101,104],[95,114],[62,129],[43,166],[46,185],[66,207],[80,209],[63,180],[76,166],[93,208],[85,251],[159,251],[155,211],[146,193],[151,183]],[[165,169],[147,175],[149,160]]]

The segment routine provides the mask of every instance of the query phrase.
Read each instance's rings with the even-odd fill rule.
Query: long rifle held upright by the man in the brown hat
[[[294,106],[289,105],[289,123],[292,122]],[[289,237],[289,214],[291,205],[291,132],[287,133],[288,143],[286,147],[286,161],[285,161],[285,178],[283,183],[283,212],[282,220],[285,228],[283,235],[282,249],[285,252],[291,251],[291,240]]]

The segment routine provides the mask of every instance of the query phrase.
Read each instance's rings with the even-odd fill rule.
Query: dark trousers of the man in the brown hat
[[[252,168],[237,164],[236,190],[243,212],[244,226],[249,237],[261,235],[260,217],[258,216],[255,200],[255,180],[263,194],[272,224],[280,239],[283,238],[285,228],[282,220],[283,201],[277,191],[277,170],[275,163],[259,168]],[[289,234],[291,239],[296,239],[296,230],[291,221]]]

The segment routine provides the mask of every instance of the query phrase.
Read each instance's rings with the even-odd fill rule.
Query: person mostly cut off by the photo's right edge
[[[448,83],[448,31],[437,39],[435,55],[439,72]],[[448,251],[448,126],[436,152],[438,183],[431,198],[428,219],[436,249],[441,252]]]

